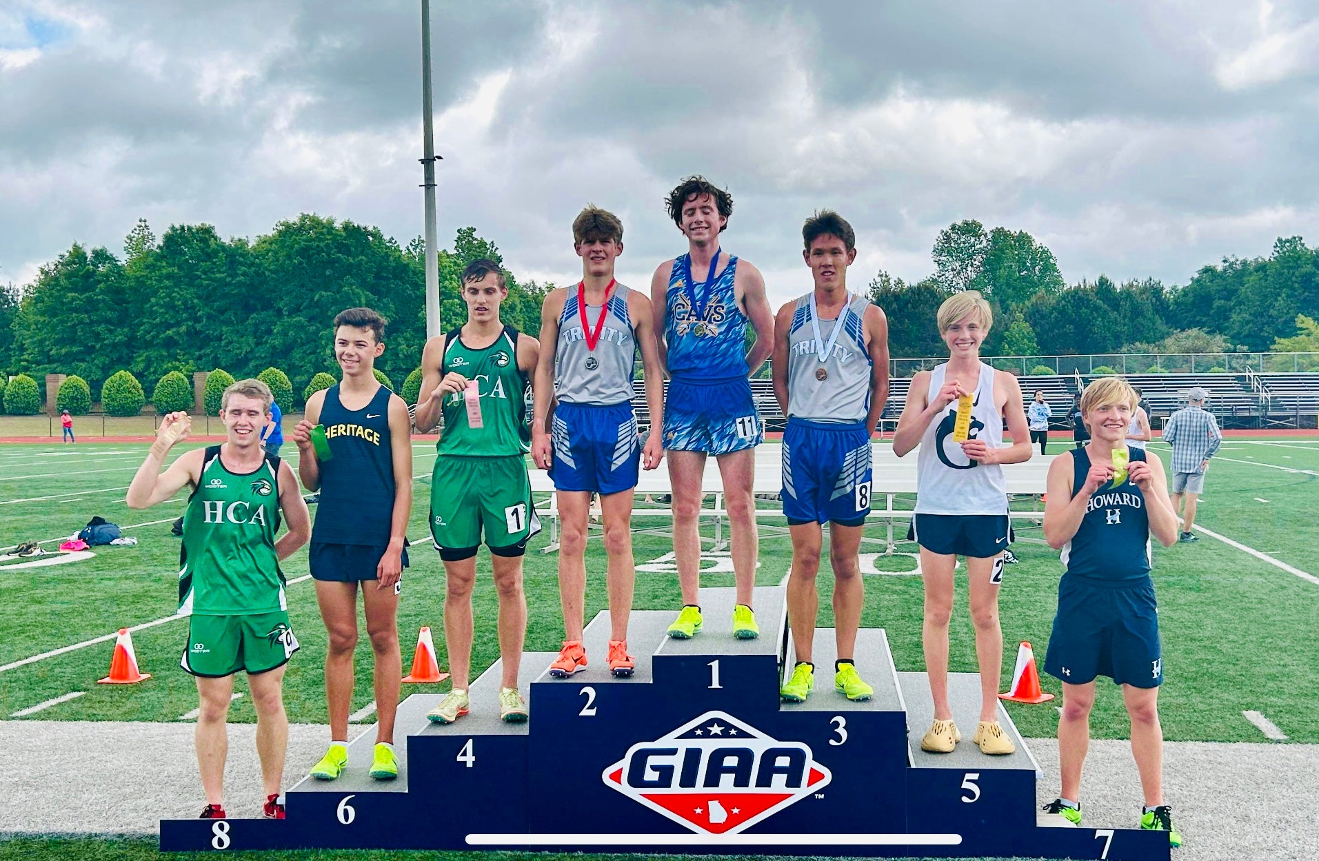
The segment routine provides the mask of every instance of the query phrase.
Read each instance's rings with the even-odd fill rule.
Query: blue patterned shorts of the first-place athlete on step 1
[[[663,447],[727,455],[765,439],[747,377],[674,378],[663,405]]]

